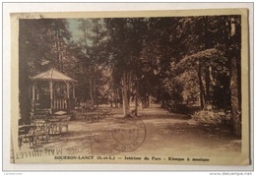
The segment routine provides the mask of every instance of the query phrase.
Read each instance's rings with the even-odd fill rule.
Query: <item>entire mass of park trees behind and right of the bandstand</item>
[[[150,99],[162,106],[211,103],[238,116],[240,16],[73,21],[82,34],[71,41],[66,20],[21,20],[21,97],[28,95],[30,76],[55,67],[78,81],[79,101],[92,107],[114,102],[124,107],[124,116],[131,101],[144,108]]]

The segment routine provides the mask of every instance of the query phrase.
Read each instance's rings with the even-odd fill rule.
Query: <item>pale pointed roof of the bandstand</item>
[[[77,82],[76,80],[60,73],[59,71],[51,68],[50,70],[40,73],[34,77],[32,80],[40,80],[40,81],[66,81],[66,82]]]

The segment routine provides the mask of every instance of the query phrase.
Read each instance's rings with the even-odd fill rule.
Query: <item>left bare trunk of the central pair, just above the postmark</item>
[[[127,81],[127,73],[126,71],[123,72],[123,114],[124,117],[130,117],[130,106],[129,106],[129,99],[128,99],[128,81]]]

